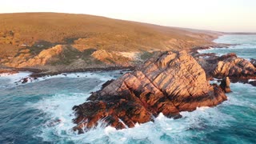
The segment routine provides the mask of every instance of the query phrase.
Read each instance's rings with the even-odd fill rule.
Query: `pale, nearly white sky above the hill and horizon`
[[[256,0],[6,0],[0,13],[58,12],[223,32],[256,32]]]

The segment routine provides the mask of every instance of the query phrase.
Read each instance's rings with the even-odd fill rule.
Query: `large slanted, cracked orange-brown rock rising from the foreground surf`
[[[73,108],[77,116],[74,123],[78,124],[74,130],[78,133],[97,126],[99,120],[123,129],[134,127],[136,122],[149,122],[159,113],[180,118],[180,111],[216,106],[226,100],[226,95],[206,81],[205,71],[183,50],[149,59],[87,100]]]

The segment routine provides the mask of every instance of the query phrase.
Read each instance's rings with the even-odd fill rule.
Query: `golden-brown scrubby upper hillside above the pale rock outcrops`
[[[9,61],[22,49],[30,50],[27,57],[30,58],[56,44],[71,45],[80,51],[142,52],[204,46],[217,36],[218,33],[203,30],[156,26],[86,14],[0,14],[0,58],[9,58]],[[22,46],[24,44],[26,46]]]

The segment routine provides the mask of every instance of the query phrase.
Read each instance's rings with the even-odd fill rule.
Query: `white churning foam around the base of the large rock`
[[[110,76],[102,76],[96,74],[97,78],[109,79]],[[100,89],[98,85],[94,90]],[[229,94],[229,100],[223,102],[221,106],[240,105],[239,99],[236,98],[236,89],[238,87],[246,88],[250,85],[241,83],[231,84],[234,92]],[[255,89],[253,89],[252,92]],[[182,118],[172,119],[166,118],[162,113],[154,118],[154,122],[146,122],[143,124],[135,124],[134,128],[127,128],[123,130],[115,130],[111,126],[106,126],[104,123],[89,130],[85,134],[74,133],[71,128],[74,125],[72,118],[74,118],[72,106],[81,104],[90,94],[56,94],[53,97],[44,98],[41,101],[31,104],[38,110],[42,110],[47,114],[49,119],[45,126],[42,127],[42,137],[44,141],[56,142],[74,142],[74,143],[132,143],[132,142],[146,142],[146,143],[189,143],[187,138],[197,137],[191,130],[199,130],[197,134],[202,134],[208,126],[226,127],[229,126],[228,121],[234,121],[235,118],[228,114],[222,113],[219,106],[216,107],[198,107],[193,112],[182,112]],[[234,96],[235,95],[235,96]],[[242,103],[244,104],[244,103]],[[58,122],[58,119],[61,121]],[[106,126],[106,127],[105,127]],[[166,137],[166,138],[162,138]]]

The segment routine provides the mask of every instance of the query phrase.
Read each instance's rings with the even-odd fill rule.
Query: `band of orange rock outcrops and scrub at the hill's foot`
[[[128,67],[137,65],[139,62],[142,63],[134,58],[135,55],[137,56],[135,52],[121,53],[96,49],[80,51],[73,46],[56,45],[42,50],[38,54],[35,50],[22,49],[8,62],[0,58],[0,63],[5,62],[4,66],[7,67],[43,69],[55,72],[88,68]]]

